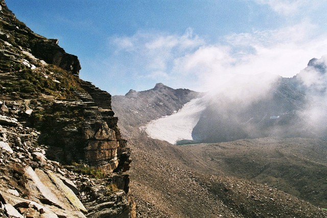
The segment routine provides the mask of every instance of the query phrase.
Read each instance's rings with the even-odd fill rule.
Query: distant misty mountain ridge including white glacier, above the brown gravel
[[[148,91],[114,96],[114,107],[121,111],[128,105],[123,109],[131,114],[127,123],[143,125],[150,137],[170,143],[268,136],[325,138],[325,59],[310,60],[293,78],[235,77],[227,83],[218,81],[216,89],[206,93],[157,84]],[[200,100],[191,103],[195,99]]]

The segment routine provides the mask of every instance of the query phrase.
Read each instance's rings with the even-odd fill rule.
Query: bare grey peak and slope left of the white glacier
[[[124,124],[124,132],[126,128],[131,131],[133,128],[129,127],[140,127],[151,120],[171,115],[201,95],[189,89],[173,89],[158,83],[150,90],[130,90],[125,95],[112,96],[112,107],[120,117],[120,123]]]

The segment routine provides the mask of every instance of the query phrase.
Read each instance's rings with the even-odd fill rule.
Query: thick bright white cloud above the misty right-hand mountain
[[[224,87],[240,75],[295,76],[313,57],[327,51],[327,39],[315,36],[308,21],[270,31],[231,34],[224,43],[199,46],[174,60],[174,75],[198,80],[196,90]],[[185,81],[185,79],[183,80]]]

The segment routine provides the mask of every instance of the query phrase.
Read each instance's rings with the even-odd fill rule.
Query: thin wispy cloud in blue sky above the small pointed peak
[[[193,52],[204,44],[204,40],[187,29],[183,35],[166,33],[138,32],[131,37],[116,37],[110,39],[110,46],[115,49],[115,60],[125,61],[125,65],[139,71],[141,78],[163,76],[169,80],[174,59]]]

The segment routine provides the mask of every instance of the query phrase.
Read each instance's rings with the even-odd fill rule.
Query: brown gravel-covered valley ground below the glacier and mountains
[[[327,142],[129,138],[137,217],[327,217]],[[310,203],[308,203],[310,202]]]

